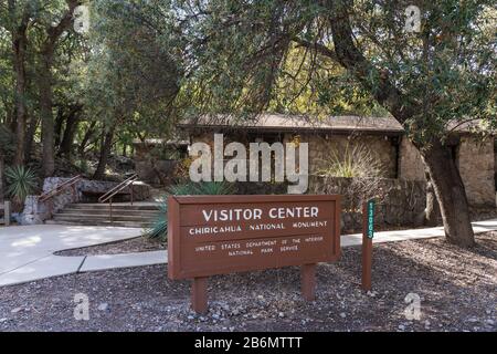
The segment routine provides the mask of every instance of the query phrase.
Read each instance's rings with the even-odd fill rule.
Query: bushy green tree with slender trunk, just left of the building
[[[144,3],[142,11],[154,10],[152,4]],[[133,6],[98,0],[92,9],[94,53],[88,62],[85,100],[102,122],[94,178],[103,178],[116,132],[169,133],[181,69],[179,58],[158,42],[158,30],[148,27]]]

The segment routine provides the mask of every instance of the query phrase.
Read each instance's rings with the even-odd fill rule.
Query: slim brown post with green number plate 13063
[[[374,199],[362,204],[362,289],[371,290],[372,239],[374,237]]]

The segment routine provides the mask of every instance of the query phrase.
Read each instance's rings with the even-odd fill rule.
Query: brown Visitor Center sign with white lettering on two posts
[[[193,308],[202,312],[205,277],[306,266],[303,292],[314,298],[308,266],[339,259],[339,220],[340,196],[171,196],[169,278],[195,280]]]

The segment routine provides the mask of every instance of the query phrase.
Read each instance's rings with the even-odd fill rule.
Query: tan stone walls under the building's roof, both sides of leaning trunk
[[[261,134],[265,140],[265,135]],[[268,143],[274,140],[268,139]],[[424,164],[421,154],[406,137],[385,137],[380,135],[310,135],[310,134],[279,134],[282,143],[297,138],[309,143],[309,174],[327,165],[334,155],[340,157],[345,150],[353,146],[366,146],[382,166],[379,177],[399,178],[401,180],[425,181]],[[245,140],[244,140],[245,139]],[[192,136],[192,142],[213,144],[213,133]],[[226,134],[225,143],[237,140],[248,143],[240,134]],[[496,205],[496,158],[494,139],[482,142],[468,135],[461,136],[457,153],[457,164],[463,178],[469,205],[473,207],[495,207]]]

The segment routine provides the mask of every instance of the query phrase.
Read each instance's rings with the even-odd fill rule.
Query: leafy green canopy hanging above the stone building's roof
[[[496,2],[417,1],[419,33],[404,29],[408,4],[181,1],[173,12],[194,69],[181,94],[193,115],[390,113],[419,146],[465,121],[495,129]],[[343,7],[350,21],[338,25]],[[348,27],[355,54],[340,59]]]

